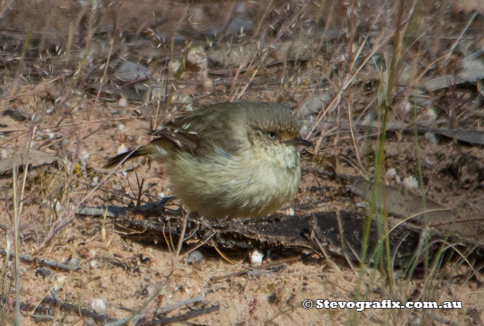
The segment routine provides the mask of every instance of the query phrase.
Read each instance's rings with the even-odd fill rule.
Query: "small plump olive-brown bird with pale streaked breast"
[[[147,156],[165,165],[176,197],[212,219],[269,215],[297,193],[299,128],[290,110],[270,102],[234,102],[192,111],[156,132],[148,145],[105,167]]]

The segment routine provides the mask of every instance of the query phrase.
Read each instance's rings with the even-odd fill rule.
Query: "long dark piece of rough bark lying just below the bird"
[[[151,205],[153,207],[153,205]],[[113,210],[111,210],[113,211]],[[133,210],[118,210],[115,222],[130,230],[130,237],[142,242],[163,242],[165,237],[178,241],[182,220],[166,217],[161,210],[138,210],[133,218]],[[153,215],[154,213],[154,215]],[[139,216],[143,215],[143,218]],[[190,217],[187,221],[187,235],[190,241],[204,241],[213,236],[217,246],[226,249],[279,250],[285,253],[300,254],[301,251],[320,251],[317,242],[339,257],[359,261],[362,254],[363,230],[367,223],[363,212],[339,211],[317,212],[310,215],[272,215],[254,219],[234,219],[230,221],[209,221]],[[136,231],[137,230],[137,231]],[[404,266],[415,257],[421,241],[423,229],[402,223],[389,235],[391,257],[395,266]],[[383,245],[378,226],[371,221],[368,239],[367,258],[374,257],[375,249]],[[317,241],[316,241],[317,239]],[[458,243],[460,248],[472,248],[475,262],[483,261],[484,246],[469,239],[447,237],[436,231],[431,241]]]

